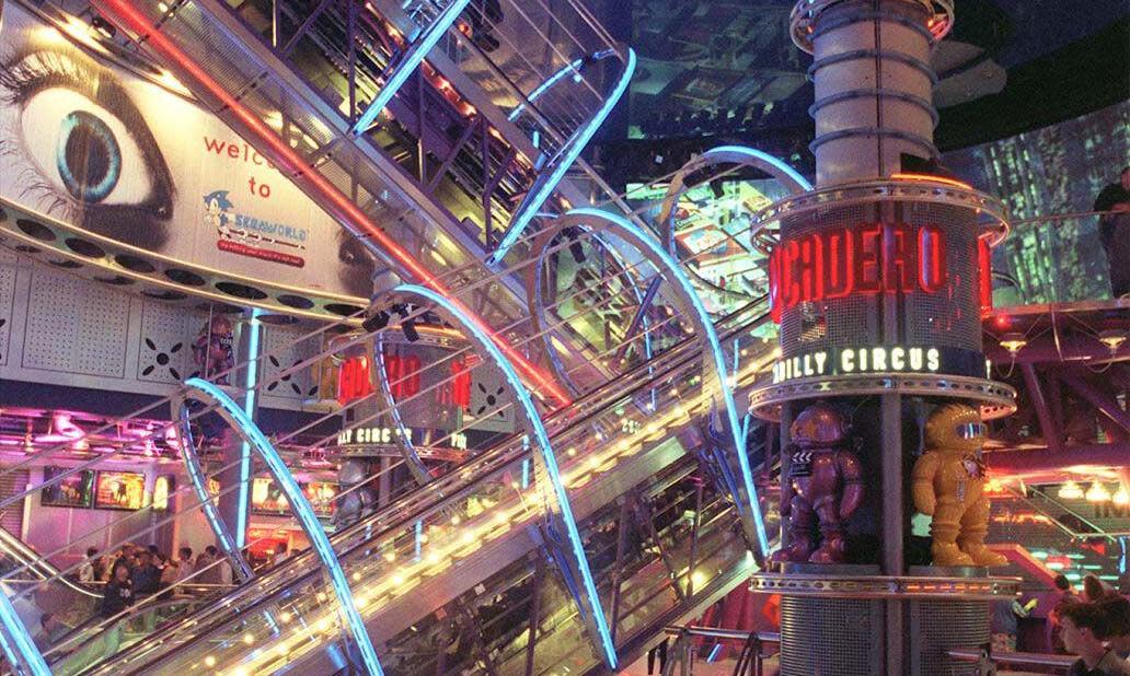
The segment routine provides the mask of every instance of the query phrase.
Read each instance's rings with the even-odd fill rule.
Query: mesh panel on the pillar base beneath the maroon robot
[[[881,673],[881,600],[781,598],[782,676],[870,676]]]

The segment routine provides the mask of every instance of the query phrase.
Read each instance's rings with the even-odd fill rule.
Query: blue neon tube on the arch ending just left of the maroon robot
[[[719,388],[722,392],[722,403],[725,407],[730,437],[733,441],[734,454],[738,456],[738,466],[741,468],[741,482],[746,489],[746,495],[749,500],[749,504],[742,506],[739,497],[734,495],[734,503],[738,504],[741,511],[748,510],[753,515],[757,544],[760,546],[763,554],[768,554],[770,541],[765,533],[765,521],[762,518],[760,504],[757,500],[757,489],[754,486],[754,473],[749,467],[749,457],[746,455],[746,445],[744,439],[740,437],[741,425],[738,423],[738,406],[733,401],[733,392],[728,383],[729,378],[725,369],[725,353],[722,351],[722,344],[719,342],[718,332],[714,331],[714,324],[711,322],[710,314],[706,313],[706,308],[703,306],[702,299],[698,298],[698,293],[695,291],[694,284],[690,283],[686,273],[681,267],[679,267],[678,262],[670,256],[670,254],[659,244],[654,236],[649,232],[644,232],[626,218],[616,213],[590,208],[574,209],[565,216],[601,219],[632,235],[635,243],[646,247],[647,252],[662,263],[662,265],[667,269],[667,272],[671,274],[671,281],[679,286],[683,290],[683,295],[687,301],[690,302],[692,309],[698,318],[699,330],[704,334],[701,337],[706,339],[707,346],[710,348],[714,372],[718,375]]]

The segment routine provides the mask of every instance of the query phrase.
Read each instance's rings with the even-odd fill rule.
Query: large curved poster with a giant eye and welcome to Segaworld
[[[0,195],[182,261],[370,291],[360,246],[221,121],[12,3],[0,30]]]

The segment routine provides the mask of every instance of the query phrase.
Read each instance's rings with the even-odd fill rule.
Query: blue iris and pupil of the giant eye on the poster
[[[122,175],[122,151],[105,122],[72,111],[59,125],[55,166],[67,192],[84,202],[101,202]]]

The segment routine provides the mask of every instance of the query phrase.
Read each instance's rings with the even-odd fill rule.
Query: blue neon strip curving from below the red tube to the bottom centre
[[[495,345],[490,337],[483,333],[478,326],[476,326],[475,323],[472,323],[470,318],[459,308],[459,306],[453,304],[449,298],[445,298],[431,289],[415,284],[400,284],[393,289],[393,292],[420,296],[447,310],[453,319],[462,324],[468,330],[471,334],[471,339],[479,344],[479,348],[486,351],[490,359],[494,360],[498,369],[502,370],[503,376],[511,386],[514,398],[519,404],[521,404],[522,411],[525,413],[525,420],[530,425],[530,432],[533,434],[541,449],[541,459],[546,466],[546,474],[557,499],[557,509],[560,511],[562,521],[565,524],[566,536],[568,537],[570,546],[573,550],[573,556],[575,558],[577,570],[581,572],[584,594],[589,599],[593,622],[597,625],[598,640],[605,650],[605,662],[610,669],[615,670],[617,668],[616,646],[612,643],[612,637],[608,631],[608,623],[605,620],[605,613],[600,606],[600,597],[597,595],[597,585],[592,580],[592,572],[589,570],[589,561],[584,555],[584,543],[581,541],[581,534],[576,527],[576,519],[573,518],[573,509],[570,507],[568,494],[565,492],[565,484],[562,482],[560,471],[557,467],[557,458],[554,456],[553,446],[549,444],[549,433],[541,423],[541,416],[538,414],[538,410],[533,406],[530,393],[522,387],[522,381],[519,380],[513,365],[506,360],[503,353],[498,350],[497,345]]]

